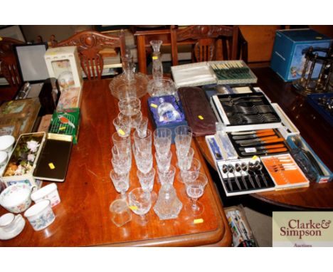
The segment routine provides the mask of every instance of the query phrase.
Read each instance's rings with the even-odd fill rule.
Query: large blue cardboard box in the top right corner
[[[313,48],[329,48],[332,39],[310,28],[278,30],[275,33],[270,67],[285,81],[301,78],[305,64],[305,54],[310,46]],[[319,56],[324,56],[319,52]],[[307,66],[310,69],[309,66]],[[320,64],[316,64],[312,78],[319,75]],[[307,72],[308,73],[308,72]]]

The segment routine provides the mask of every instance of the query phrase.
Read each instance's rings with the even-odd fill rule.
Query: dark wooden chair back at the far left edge
[[[15,38],[0,37],[0,62],[1,73],[8,81],[11,88],[18,88],[21,85],[21,77],[18,73],[15,54],[13,51],[14,44],[20,44]]]

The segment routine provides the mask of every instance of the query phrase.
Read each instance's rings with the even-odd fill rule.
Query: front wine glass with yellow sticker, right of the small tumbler
[[[139,223],[142,226],[147,224],[148,220],[145,215],[152,207],[152,197],[150,192],[142,188],[132,189],[132,191],[129,192],[128,201],[129,209],[132,209],[134,214],[138,214],[140,216]]]

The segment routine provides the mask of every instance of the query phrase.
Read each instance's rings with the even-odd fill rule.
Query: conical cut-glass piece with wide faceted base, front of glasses
[[[154,206],[154,211],[159,219],[174,219],[178,217],[183,204],[177,197],[176,190],[171,184],[163,184],[159,190],[159,197]]]

